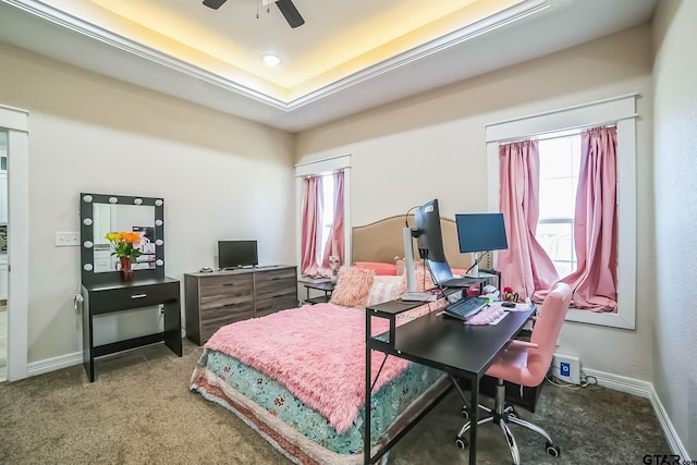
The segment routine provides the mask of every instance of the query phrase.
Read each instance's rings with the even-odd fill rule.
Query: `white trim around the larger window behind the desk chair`
[[[601,314],[570,308],[567,321],[622,329],[636,327],[636,98],[631,94],[545,113],[487,124],[488,207],[499,208],[499,144],[538,135],[617,126],[617,313]]]

